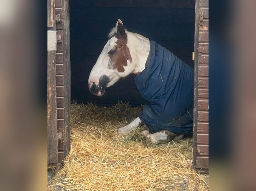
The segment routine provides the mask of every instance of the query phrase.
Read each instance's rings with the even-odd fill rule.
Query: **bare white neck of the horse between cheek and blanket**
[[[132,73],[138,75],[145,69],[150,49],[149,39],[139,34],[128,32],[128,46],[132,57],[132,64],[135,65]]]

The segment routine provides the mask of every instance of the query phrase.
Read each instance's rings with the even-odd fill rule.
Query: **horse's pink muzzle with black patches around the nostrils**
[[[106,75],[102,75],[99,79],[99,84],[96,85],[95,82],[90,82],[89,83],[89,90],[92,94],[94,95],[104,95],[105,89],[107,84],[109,83],[110,79]]]

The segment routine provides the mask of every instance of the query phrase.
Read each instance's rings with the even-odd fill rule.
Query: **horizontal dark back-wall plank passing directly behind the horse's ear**
[[[188,40],[194,38],[194,24],[124,24],[131,31],[150,40]],[[112,26],[98,23],[71,26],[72,39],[105,39]],[[105,44],[106,44],[105,42]],[[97,44],[97,42],[94,42]],[[105,45],[104,44],[104,45]],[[103,46],[101,46],[103,47]]]

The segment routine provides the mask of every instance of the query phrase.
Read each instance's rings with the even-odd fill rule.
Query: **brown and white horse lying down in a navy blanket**
[[[120,78],[136,74],[135,84],[145,100],[140,115],[118,129],[127,135],[141,124],[153,144],[179,140],[193,131],[194,70],[156,42],[124,28],[118,19],[93,66],[88,86],[102,96]]]

